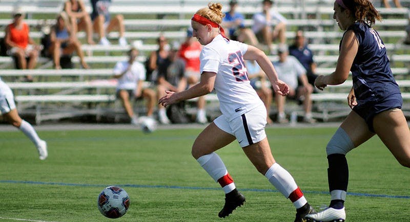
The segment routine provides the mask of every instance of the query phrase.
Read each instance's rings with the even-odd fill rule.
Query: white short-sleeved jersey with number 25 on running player
[[[248,45],[218,35],[200,54],[200,73],[216,73],[214,88],[219,107],[229,120],[263,105],[248,79],[242,56],[247,50]]]

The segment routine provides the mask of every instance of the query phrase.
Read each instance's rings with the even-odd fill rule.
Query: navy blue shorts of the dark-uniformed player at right
[[[375,104],[366,104],[363,106],[355,106],[353,108],[354,112],[356,112],[359,116],[361,116],[364,121],[366,122],[368,129],[372,132],[375,132],[375,129],[373,128],[373,118],[389,109],[394,109],[394,108],[400,108],[403,105],[403,98],[401,97],[401,94],[393,94],[387,98],[385,98],[383,101],[375,103]]]

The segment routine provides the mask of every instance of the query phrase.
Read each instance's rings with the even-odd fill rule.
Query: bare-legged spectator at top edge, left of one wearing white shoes
[[[86,10],[84,2],[81,0],[67,0],[64,3],[64,11],[70,17],[73,34],[75,35],[77,31],[84,29],[87,33],[87,42],[90,45],[94,45],[91,17]]]

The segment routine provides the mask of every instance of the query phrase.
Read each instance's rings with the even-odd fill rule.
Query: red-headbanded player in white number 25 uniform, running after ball
[[[207,8],[198,10],[191,20],[193,36],[204,46],[200,54],[200,82],[186,91],[166,91],[167,95],[161,97],[159,103],[168,106],[215,89],[222,115],[196,138],[192,156],[220,184],[226,195],[219,217],[228,216],[245,202],[215,152],[236,139],[256,169],[291,200],[297,209],[295,221],[304,221],[304,215],[316,211],[308,204],[292,175],[272,156],[265,133],[267,111],[250,84],[243,60],[257,61],[278,96],[288,95],[289,86],[278,79],[272,62],[261,50],[226,38],[220,26],[221,10],[220,3],[210,3]]]

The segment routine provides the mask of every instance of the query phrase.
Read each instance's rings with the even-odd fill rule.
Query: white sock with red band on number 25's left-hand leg
[[[235,189],[235,183],[229,175],[227,167],[215,152],[204,155],[196,161],[201,167],[208,172],[208,174],[218,182],[225,193],[229,193]]]

